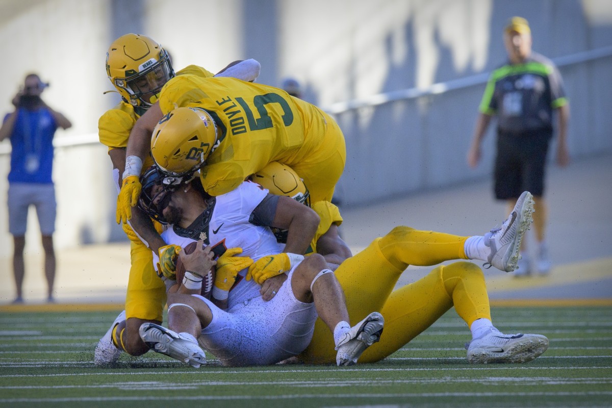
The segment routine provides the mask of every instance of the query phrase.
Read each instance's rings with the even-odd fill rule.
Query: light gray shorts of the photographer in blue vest
[[[9,232],[15,237],[26,235],[28,208],[36,207],[40,234],[51,236],[55,231],[55,187],[53,184],[9,183]]]

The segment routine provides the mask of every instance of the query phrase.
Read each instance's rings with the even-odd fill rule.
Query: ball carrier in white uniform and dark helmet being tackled
[[[198,180],[176,182],[155,168],[143,176],[141,207],[159,221],[173,224],[162,234],[165,242],[182,248],[200,243],[192,253],[179,255],[185,277],[179,292],[169,291],[171,330],[153,323],[140,328],[151,349],[198,367],[206,361],[199,341],[224,365],[268,365],[302,352],[310,343],[317,316],[334,333],[338,365],[356,363],[379,340],[381,314],[370,313],[351,327],[344,294],[324,258],[301,255],[319,224],[315,212],[305,211],[291,198],[270,195],[253,182],[217,197],[203,195]],[[288,229],[284,252],[266,226]],[[227,257],[233,258],[229,266],[217,268],[213,297],[225,297],[226,311],[201,295],[184,294],[185,290],[200,293],[202,277],[216,263],[213,256],[228,250],[234,254],[234,248],[242,251],[237,258],[253,262],[248,269],[244,264],[236,268],[232,256]],[[264,300],[262,292],[270,286],[259,283],[279,274],[286,280],[278,290],[272,289],[271,300]]]

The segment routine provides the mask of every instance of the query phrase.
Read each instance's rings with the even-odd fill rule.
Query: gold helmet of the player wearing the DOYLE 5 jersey
[[[182,177],[200,169],[218,146],[217,127],[201,108],[176,108],[153,130],[151,155],[165,174]]]

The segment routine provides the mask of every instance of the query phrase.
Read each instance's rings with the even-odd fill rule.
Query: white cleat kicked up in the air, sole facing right
[[[491,248],[491,253],[483,267],[494,266],[506,272],[517,269],[521,240],[533,221],[533,212],[533,196],[529,191],[524,191],[501,228],[491,229],[485,234],[485,245]]]

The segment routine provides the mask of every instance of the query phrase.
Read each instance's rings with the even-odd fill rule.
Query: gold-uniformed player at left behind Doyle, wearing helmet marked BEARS
[[[255,60],[236,61],[217,75],[235,75],[244,80],[255,80],[259,75],[259,63]],[[113,178],[121,185],[120,169],[125,168],[125,148],[130,132],[147,109],[157,100],[162,86],[175,76],[170,56],[162,46],[145,35],[125,34],[116,39],[106,54],[106,73],[122,100],[106,111],[99,120],[100,143],[108,147],[113,162]],[[214,76],[213,73],[189,65],[176,75]],[[152,164],[152,161],[147,160]],[[147,166],[148,167],[148,166]],[[146,215],[135,211],[132,226],[124,224],[124,231],[131,240],[131,267],[125,311],[111,325],[95,348],[94,362],[108,365],[116,362],[121,351],[141,355],[148,347],[138,335],[143,322],[161,322],[166,302],[165,286],[153,267],[151,250],[165,245],[158,232],[160,224],[153,228]],[[142,240],[141,240],[142,239]]]

